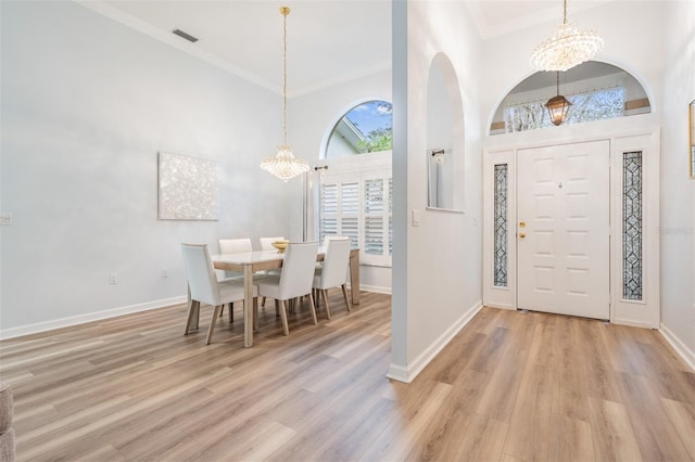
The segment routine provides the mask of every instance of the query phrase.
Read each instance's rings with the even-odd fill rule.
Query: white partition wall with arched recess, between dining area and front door
[[[480,40],[462,2],[394,2],[393,28],[397,201],[389,375],[408,382],[481,304],[482,124],[477,93],[483,80]],[[427,88],[438,52],[448,56],[460,86],[466,172],[458,180],[466,189],[465,214],[426,209]],[[410,221],[414,210],[417,227]]]

